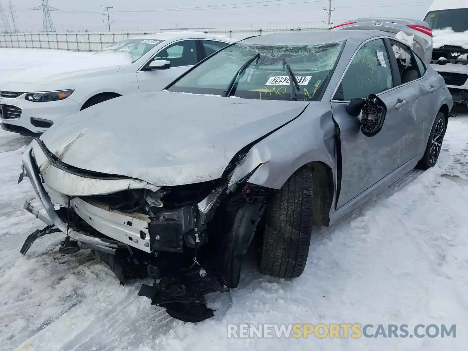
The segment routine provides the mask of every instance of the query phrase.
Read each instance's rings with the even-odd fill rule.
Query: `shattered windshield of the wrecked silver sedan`
[[[316,100],[342,46],[342,42],[317,45],[234,44],[194,68],[168,90],[260,100]],[[291,73],[296,80],[293,79],[294,84],[290,81]],[[229,94],[231,85],[232,94]]]

